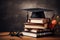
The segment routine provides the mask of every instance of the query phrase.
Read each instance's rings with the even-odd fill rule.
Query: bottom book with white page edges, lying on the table
[[[41,37],[45,35],[50,35],[52,32],[43,32],[43,33],[32,33],[32,32],[22,32],[24,36],[31,36],[31,37]]]

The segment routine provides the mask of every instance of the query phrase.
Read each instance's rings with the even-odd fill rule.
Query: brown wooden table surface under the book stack
[[[1,32],[0,33],[0,40],[60,40],[60,37],[40,37],[40,38],[33,38],[33,37],[27,37],[27,36],[10,36],[8,35],[9,32]]]

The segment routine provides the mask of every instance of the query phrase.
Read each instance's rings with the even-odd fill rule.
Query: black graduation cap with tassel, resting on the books
[[[53,11],[46,8],[26,8],[22,10],[26,10],[27,12],[28,11],[32,12],[31,18],[45,18],[44,11]],[[28,16],[29,16],[29,13],[27,13],[27,19],[28,19]]]

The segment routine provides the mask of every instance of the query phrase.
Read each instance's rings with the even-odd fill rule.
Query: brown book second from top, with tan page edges
[[[35,29],[46,29],[47,23],[46,24],[36,24],[36,23],[25,23],[24,28],[35,28]]]

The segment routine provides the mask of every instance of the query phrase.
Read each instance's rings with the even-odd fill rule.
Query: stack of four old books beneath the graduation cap
[[[28,21],[24,23],[24,32],[22,32],[22,34],[31,37],[51,35],[52,32],[48,29],[48,20],[47,18],[28,19]]]

